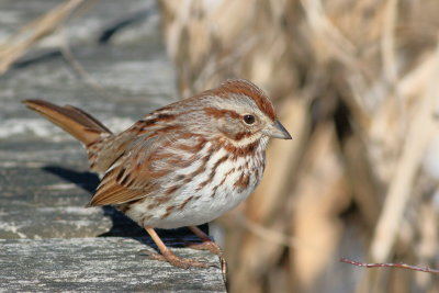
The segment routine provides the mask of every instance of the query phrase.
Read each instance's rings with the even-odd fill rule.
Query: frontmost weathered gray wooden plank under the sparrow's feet
[[[225,292],[217,257],[175,249],[209,269],[173,268],[139,253],[143,238],[1,240],[1,292]]]

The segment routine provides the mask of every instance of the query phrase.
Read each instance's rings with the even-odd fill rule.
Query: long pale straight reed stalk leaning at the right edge
[[[396,237],[401,233],[404,212],[408,209],[407,205],[413,196],[415,177],[419,171],[427,146],[434,137],[432,134],[438,127],[435,114],[438,106],[439,49],[431,56],[430,63],[434,70],[428,79],[423,80],[427,83],[424,87],[424,97],[416,101],[416,112],[410,117],[412,123],[401,158],[397,161],[395,177],[390,182],[383,211],[371,240],[370,258],[372,262],[387,262],[392,257]],[[374,292],[386,292],[384,278],[383,274],[369,273],[360,286],[360,292],[369,292],[371,284],[373,284]]]

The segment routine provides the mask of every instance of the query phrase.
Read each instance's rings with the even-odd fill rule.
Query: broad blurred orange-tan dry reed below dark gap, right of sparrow
[[[303,244],[290,255],[291,279],[297,292],[308,292],[318,284],[317,277],[330,266],[342,236],[340,211],[350,202],[349,187],[339,156],[334,125],[315,131],[305,160],[299,172],[295,213],[291,234]],[[309,233],[318,232],[318,233]]]

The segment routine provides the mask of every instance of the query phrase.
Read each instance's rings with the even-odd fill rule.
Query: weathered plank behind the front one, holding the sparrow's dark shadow
[[[0,238],[145,235],[114,207],[85,207],[98,178],[77,169],[0,168]]]

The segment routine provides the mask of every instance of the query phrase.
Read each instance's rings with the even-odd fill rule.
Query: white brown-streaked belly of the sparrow
[[[223,150],[212,156],[206,165],[207,171],[198,174],[191,182],[181,187],[168,201],[154,204],[160,195],[147,196],[133,204],[126,211],[126,215],[143,226],[178,228],[211,222],[233,210],[258,185],[264,161],[263,156],[251,161],[240,157],[233,162],[221,164],[211,174],[212,166],[225,154]],[[196,166],[188,168],[195,169]],[[180,173],[190,172],[191,170],[187,169],[180,171]],[[243,178],[248,179],[248,182],[245,180],[247,184],[237,184]],[[209,183],[205,183],[206,181]],[[175,182],[169,182],[164,189],[172,184]]]

